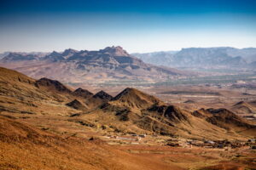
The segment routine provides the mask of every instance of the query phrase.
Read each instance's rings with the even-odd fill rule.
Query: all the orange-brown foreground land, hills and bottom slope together
[[[245,147],[226,151],[170,145],[212,139],[236,146],[237,140],[255,138],[255,127],[226,109],[185,110],[135,88],[116,96],[93,94],[0,67],[4,170],[254,169],[255,153]]]

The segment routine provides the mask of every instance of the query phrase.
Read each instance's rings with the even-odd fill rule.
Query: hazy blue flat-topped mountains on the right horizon
[[[180,51],[132,54],[146,63],[176,68],[253,68],[256,48],[183,48]]]

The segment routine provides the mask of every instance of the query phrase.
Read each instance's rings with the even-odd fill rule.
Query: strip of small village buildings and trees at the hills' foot
[[[106,135],[101,136],[100,139],[106,141],[108,144],[145,144],[154,145],[161,144],[170,147],[181,147],[181,148],[211,148],[211,149],[236,149],[236,148],[246,148],[251,150],[256,150],[256,139],[248,139],[245,141],[230,141],[224,140],[210,140],[210,139],[176,139],[159,137],[158,135],[147,135],[147,134],[129,134],[129,135]]]

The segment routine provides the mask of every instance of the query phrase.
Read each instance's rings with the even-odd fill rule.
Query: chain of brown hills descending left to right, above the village
[[[44,128],[51,128],[51,118],[46,122],[32,120],[37,116],[60,116],[55,119],[66,124],[67,130],[67,124],[78,123],[94,132],[101,128],[102,133],[176,138],[246,140],[256,135],[253,122],[224,109],[188,111],[135,88],[125,88],[112,97],[104,91],[92,94],[82,88],[73,90],[48,78],[34,80],[5,68],[0,68],[0,73],[1,114],[26,115],[26,121]],[[59,132],[62,127],[54,128]]]

